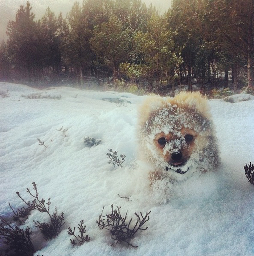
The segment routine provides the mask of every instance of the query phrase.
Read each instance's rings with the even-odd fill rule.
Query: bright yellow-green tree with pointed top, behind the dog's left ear
[[[122,64],[121,69],[132,80],[148,81],[151,90],[154,85],[170,82],[181,58],[172,51],[174,42],[166,17],[154,12],[147,24],[147,32],[135,32],[132,60]]]

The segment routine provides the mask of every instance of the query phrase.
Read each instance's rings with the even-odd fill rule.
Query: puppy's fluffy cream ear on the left
[[[163,103],[163,98],[159,96],[147,97],[139,107],[139,125],[146,123],[153,112],[163,107]]]

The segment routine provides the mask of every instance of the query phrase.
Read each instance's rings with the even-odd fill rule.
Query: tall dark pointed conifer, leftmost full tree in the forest
[[[21,5],[16,13],[15,21],[7,25],[8,44],[15,68],[21,71],[29,83],[39,79],[43,67],[43,41],[40,31],[40,21],[35,22],[29,2],[24,8]]]

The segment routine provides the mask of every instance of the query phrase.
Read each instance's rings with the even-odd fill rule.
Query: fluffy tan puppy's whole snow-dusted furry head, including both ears
[[[139,110],[139,145],[150,179],[183,180],[216,168],[218,148],[208,104],[200,93],[149,97]]]

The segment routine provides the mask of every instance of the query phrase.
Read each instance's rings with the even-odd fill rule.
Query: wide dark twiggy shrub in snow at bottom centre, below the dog
[[[111,237],[113,240],[116,241],[116,243],[122,243],[125,242],[128,245],[132,247],[138,247],[130,243],[130,240],[136,235],[136,233],[139,230],[146,230],[146,228],[143,228],[142,226],[149,220],[149,214],[151,211],[146,212],[146,215],[143,217],[142,212],[140,212],[140,215],[138,215],[135,212],[135,215],[137,217],[136,223],[132,225],[132,218],[127,221],[127,213],[125,216],[122,216],[120,213],[121,207],[116,207],[117,209],[113,209],[113,205],[111,205],[111,213],[106,214],[103,216],[103,210],[102,213],[99,216],[99,220],[96,221],[98,224],[98,227],[100,229],[106,229],[110,232]],[[141,217],[140,217],[141,216]]]

